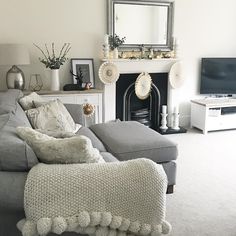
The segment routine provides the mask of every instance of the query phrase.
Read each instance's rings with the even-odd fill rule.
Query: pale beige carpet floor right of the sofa
[[[236,131],[168,135],[179,145],[172,236],[236,236]]]

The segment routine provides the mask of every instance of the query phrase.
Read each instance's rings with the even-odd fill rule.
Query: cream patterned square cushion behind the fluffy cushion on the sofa
[[[60,100],[50,101],[38,108],[27,110],[26,114],[35,129],[76,133],[81,127],[75,124]]]

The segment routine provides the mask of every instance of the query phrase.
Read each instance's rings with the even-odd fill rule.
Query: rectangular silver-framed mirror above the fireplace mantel
[[[126,37],[123,47],[171,48],[172,2],[108,0],[108,5],[108,33]]]

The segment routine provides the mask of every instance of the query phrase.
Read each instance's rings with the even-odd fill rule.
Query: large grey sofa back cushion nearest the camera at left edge
[[[17,105],[15,114],[0,115],[1,171],[28,171],[38,163],[33,150],[17,136],[17,126],[30,126],[19,105]]]

